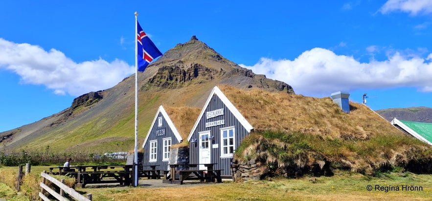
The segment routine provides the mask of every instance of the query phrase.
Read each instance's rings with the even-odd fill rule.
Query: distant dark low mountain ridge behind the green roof
[[[430,107],[390,108],[376,112],[387,121],[397,118],[398,120],[432,123],[432,108]]]

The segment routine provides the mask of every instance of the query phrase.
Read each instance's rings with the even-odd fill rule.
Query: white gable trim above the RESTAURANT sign
[[[192,131],[190,132],[189,136],[187,137],[187,141],[190,141],[190,139],[192,138],[192,135],[195,132],[195,130],[198,126],[198,123],[200,123],[201,118],[205,114],[205,110],[207,109],[208,104],[210,103],[211,99],[213,98],[213,95],[216,95],[219,97],[219,99],[225,104],[225,106],[227,106],[228,110],[232,113],[232,115],[234,115],[234,117],[238,121],[240,121],[240,123],[248,131],[248,133],[250,133],[250,131],[253,129],[253,127],[243,117],[243,115],[237,110],[237,108],[235,108],[235,106],[231,103],[231,101],[228,100],[228,98],[225,96],[225,94],[222,93],[222,91],[217,86],[215,86],[213,88],[213,90],[211,91],[210,96],[208,96],[207,101],[205,102],[205,105],[203,107],[203,110],[201,110],[200,116],[198,117],[197,121],[195,122],[194,127],[192,128]]]

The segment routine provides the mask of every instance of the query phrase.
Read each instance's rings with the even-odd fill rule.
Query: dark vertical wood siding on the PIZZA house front
[[[156,169],[163,169],[166,170],[167,169],[167,165],[168,165],[168,161],[162,161],[162,157],[163,157],[163,141],[162,139],[164,138],[171,138],[171,145],[173,144],[177,144],[180,141],[177,140],[177,138],[174,136],[174,133],[171,129],[171,127],[169,127],[168,123],[166,123],[165,118],[162,116],[162,113],[159,112],[158,114],[158,118],[162,117],[162,126],[158,127],[158,120],[155,121],[155,124],[152,127],[152,131],[150,132],[150,136],[147,139],[146,143],[144,144],[143,147],[143,161],[142,164],[143,165],[159,165],[158,167],[156,167]],[[161,129],[161,128],[165,128],[165,134],[158,136],[156,134],[156,131]],[[158,148],[157,148],[157,161],[155,162],[150,162],[150,141],[154,141],[157,140],[158,141]],[[147,167],[149,168],[149,167]]]

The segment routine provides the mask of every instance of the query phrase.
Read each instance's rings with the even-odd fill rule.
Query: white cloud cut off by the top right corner
[[[411,15],[432,14],[432,0],[387,0],[380,8],[383,14],[398,10]]]

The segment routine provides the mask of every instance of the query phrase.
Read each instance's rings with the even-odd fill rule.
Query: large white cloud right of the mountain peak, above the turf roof
[[[431,55],[426,59],[432,58]],[[295,60],[261,58],[253,66],[240,65],[254,73],[284,81],[293,86],[297,94],[307,96],[323,97],[335,91],[400,86],[432,92],[432,64],[398,52],[384,61],[361,63],[350,56],[314,48],[303,52]]]

